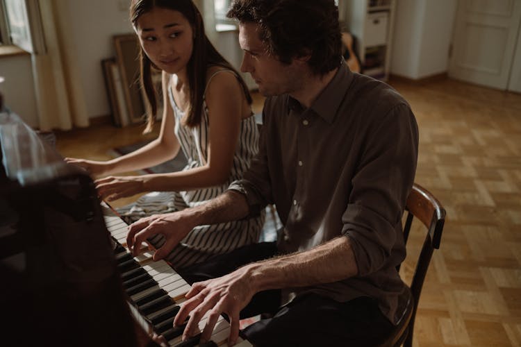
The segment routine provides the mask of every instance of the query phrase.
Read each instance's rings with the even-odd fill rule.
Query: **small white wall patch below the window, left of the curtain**
[[[33,87],[31,56],[0,57],[0,92],[11,111],[22,117],[29,126],[38,126],[36,96]]]

